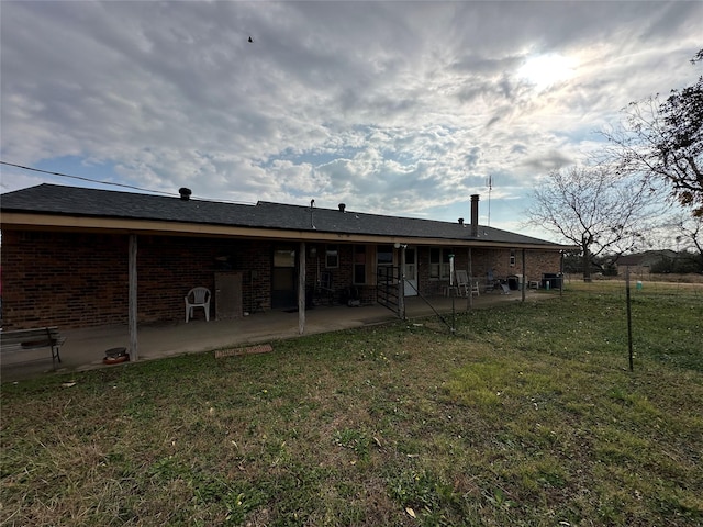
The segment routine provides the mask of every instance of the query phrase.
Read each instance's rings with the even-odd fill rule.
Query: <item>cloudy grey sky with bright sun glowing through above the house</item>
[[[693,83],[703,47],[699,1],[3,0],[0,18],[3,161],[451,222],[479,193],[482,224],[490,176],[490,225],[526,234],[537,178],[628,102]],[[113,188],[1,170],[2,192]]]

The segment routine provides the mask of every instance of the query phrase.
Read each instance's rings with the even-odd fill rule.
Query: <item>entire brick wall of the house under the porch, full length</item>
[[[295,248],[299,246],[293,245]],[[243,310],[271,306],[275,243],[226,238],[137,237],[137,312],[140,323],[180,322],[183,296],[196,285],[214,294],[214,272],[242,272]],[[315,247],[316,256],[311,255]],[[306,290],[317,271],[332,272],[336,300],[344,301],[353,281],[353,245],[338,245],[339,267],[325,269],[324,244],[306,244]],[[468,269],[468,250],[456,249],[455,267]],[[129,310],[129,236],[108,234],[2,232],[3,326],[57,325],[64,328],[126,324]],[[443,281],[429,279],[429,249],[417,251],[422,294],[439,294]],[[559,271],[558,251],[526,251],[526,280]],[[472,276],[495,278],[522,273],[522,250],[510,266],[509,249],[473,249]],[[362,303],[376,300],[372,284],[359,287]],[[214,314],[214,303],[211,304]]]

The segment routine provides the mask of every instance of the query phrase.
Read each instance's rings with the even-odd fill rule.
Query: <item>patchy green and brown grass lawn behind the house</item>
[[[703,524],[703,290],[545,294],[5,383],[0,523]]]

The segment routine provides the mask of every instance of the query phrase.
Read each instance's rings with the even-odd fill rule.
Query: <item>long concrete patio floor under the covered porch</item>
[[[554,294],[526,293],[526,300]],[[500,302],[515,302],[522,299],[520,291],[509,295],[489,293],[473,298],[473,307],[489,307]],[[428,299],[406,299],[409,319],[432,316],[434,310],[451,313],[454,300],[457,313],[467,310],[467,299],[435,296]],[[353,327],[381,324],[398,319],[397,315],[381,305],[361,307],[317,306],[305,312],[305,335],[335,332]],[[52,369],[48,349],[25,350],[3,358],[0,365],[2,382],[14,382],[43,374],[68,373],[94,368],[111,368],[103,363],[105,350],[116,347],[129,348],[130,335],[126,325],[98,326],[62,332],[66,344],[62,347],[62,362],[56,371]],[[0,334],[1,336],[1,334]],[[210,321],[198,318],[190,323],[167,323],[142,325],[137,330],[140,361],[182,354],[202,352],[214,349],[239,348],[255,344],[294,338],[299,336],[298,313],[269,311],[255,313],[235,321]],[[1,337],[0,337],[1,338]],[[33,360],[29,360],[33,359]]]

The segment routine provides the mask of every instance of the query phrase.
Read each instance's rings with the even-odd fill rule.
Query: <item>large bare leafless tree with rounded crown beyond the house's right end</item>
[[[583,279],[590,281],[600,255],[617,257],[641,246],[657,201],[647,181],[607,165],[571,166],[542,178],[527,217],[580,247]]]

